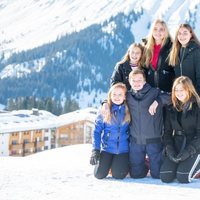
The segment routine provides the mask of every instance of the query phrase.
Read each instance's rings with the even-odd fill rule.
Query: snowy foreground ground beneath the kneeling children
[[[189,184],[160,180],[98,180],[89,164],[91,144],[62,147],[28,157],[1,157],[3,200],[188,200],[200,196],[200,179]]]

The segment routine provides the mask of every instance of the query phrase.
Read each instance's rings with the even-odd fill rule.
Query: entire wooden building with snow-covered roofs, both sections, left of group
[[[55,116],[47,111],[0,113],[0,156],[27,156],[72,144],[91,143],[97,109]]]

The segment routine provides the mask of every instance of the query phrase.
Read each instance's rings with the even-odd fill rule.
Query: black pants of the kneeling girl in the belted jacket
[[[189,183],[199,171],[200,154],[198,153],[178,164],[165,157],[160,169],[160,179],[165,183],[170,183],[174,179],[180,183]]]

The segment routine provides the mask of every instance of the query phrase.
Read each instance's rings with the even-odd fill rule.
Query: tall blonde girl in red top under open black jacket
[[[144,50],[146,80],[152,87],[171,92],[174,69],[168,63],[172,39],[164,21],[157,19],[149,33]]]

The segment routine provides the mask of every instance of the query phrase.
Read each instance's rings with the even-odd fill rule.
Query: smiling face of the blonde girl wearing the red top
[[[153,28],[153,38],[155,40],[155,43],[161,44],[164,38],[166,37],[166,30],[165,27],[161,23],[156,23]]]

